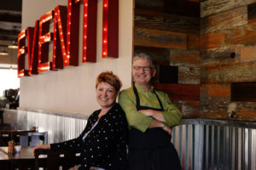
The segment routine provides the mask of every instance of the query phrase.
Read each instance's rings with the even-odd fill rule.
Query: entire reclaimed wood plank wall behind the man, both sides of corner
[[[256,84],[256,0],[136,0],[134,14],[134,54],[177,67],[177,83],[155,82],[183,116],[256,121],[256,86],[240,92]]]

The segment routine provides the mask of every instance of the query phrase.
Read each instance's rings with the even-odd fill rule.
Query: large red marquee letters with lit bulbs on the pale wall
[[[103,0],[102,8],[102,57],[118,58],[119,0]],[[97,0],[84,0],[83,9],[82,62],[96,62]],[[67,6],[56,6],[36,20],[34,27],[20,32],[18,77],[79,65],[79,14],[80,0],[68,0]],[[53,42],[52,56],[49,56],[50,42]]]

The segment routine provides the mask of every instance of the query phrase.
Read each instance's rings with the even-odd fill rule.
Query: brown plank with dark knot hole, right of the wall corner
[[[201,51],[201,65],[234,64],[240,62],[242,45],[224,46]]]

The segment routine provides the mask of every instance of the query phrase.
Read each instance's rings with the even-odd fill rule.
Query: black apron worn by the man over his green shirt
[[[133,87],[136,96],[137,111],[164,111],[159,96],[160,109],[140,105],[137,88]],[[177,150],[171,143],[172,136],[161,127],[148,128],[145,133],[131,127],[129,132],[129,169],[130,170],[179,170],[181,169]]]

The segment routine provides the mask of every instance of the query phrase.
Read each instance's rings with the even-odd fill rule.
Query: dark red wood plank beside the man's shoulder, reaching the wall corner
[[[200,100],[200,85],[155,83],[156,89],[162,90],[176,101]]]

